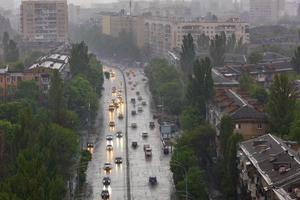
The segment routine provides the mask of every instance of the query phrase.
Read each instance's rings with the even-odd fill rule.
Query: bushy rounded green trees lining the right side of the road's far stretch
[[[154,59],[145,69],[149,87],[157,105],[164,111],[178,115],[183,102],[183,86],[175,67],[164,59]]]

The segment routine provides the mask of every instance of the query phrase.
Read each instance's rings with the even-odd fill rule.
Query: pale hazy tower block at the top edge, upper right
[[[250,0],[250,21],[253,24],[277,22],[284,14],[285,0]]]

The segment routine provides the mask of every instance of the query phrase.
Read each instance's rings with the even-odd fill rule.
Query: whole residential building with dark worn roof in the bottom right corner
[[[300,199],[297,142],[267,134],[239,144],[239,192],[243,199]]]

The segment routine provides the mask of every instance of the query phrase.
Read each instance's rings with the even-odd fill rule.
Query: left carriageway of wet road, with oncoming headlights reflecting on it
[[[110,70],[105,68],[104,70]],[[111,185],[107,188],[110,193],[110,199],[115,200],[124,200],[127,198],[126,190],[126,149],[125,149],[125,137],[117,138],[116,132],[122,131],[124,134],[125,130],[125,119],[119,120],[118,115],[122,113],[125,115],[125,102],[119,104],[119,108],[113,112],[108,110],[109,104],[112,103],[112,99],[117,99],[117,92],[119,89],[122,90],[122,99],[125,99],[124,96],[124,83],[121,81],[122,74],[118,70],[113,70],[115,77],[112,77],[110,80],[105,80],[102,97],[102,116],[103,124],[102,130],[98,130],[97,143],[94,147],[92,161],[88,165],[87,169],[87,187],[90,196],[88,199],[99,200],[101,199],[101,192],[105,188],[102,184],[102,178],[104,176],[109,176],[111,179]],[[112,88],[116,87],[117,92],[112,93]],[[115,122],[115,127],[109,127],[109,122]],[[107,141],[106,136],[113,135],[113,140]],[[107,151],[106,145],[112,144],[113,150]],[[117,165],[114,163],[115,157],[121,156],[123,158],[123,163]],[[105,162],[110,162],[113,167],[112,170],[107,173],[103,170]]]

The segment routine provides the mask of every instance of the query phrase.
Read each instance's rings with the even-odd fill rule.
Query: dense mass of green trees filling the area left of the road
[[[14,100],[0,104],[0,199],[63,199],[78,156],[84,166],[79,184],[84,182],[91,155],[79,154],[77,130],[86,116],[95,118],[102,65],[84,43],[74,44],[70,60],[71,80],[53,71],[48,94],[35,81],[23,81]]]

